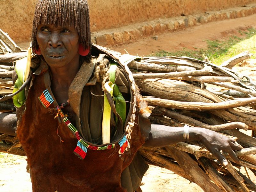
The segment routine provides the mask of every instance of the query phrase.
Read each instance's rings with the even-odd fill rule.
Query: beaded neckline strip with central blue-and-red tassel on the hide
[[[76,127],[69,121],[68,117],[65,117],[65,115],[61,112],[59,106],[56,106],[56,110],[57,110],[57,116],[62,117],[62,121],[68,126],[68,128],[74,133],[74,135],[76,136],[77,141],[77,146],[74,150],[74,153],[79,156],[80,158],[84,159],[87,153],[87,149],[91,149],[91,150],[105,150],[105,149],[112,149],[115,147],[115,144],[110,144],[110,145],[105,145],[102,147],[96,147],[96,146],[92,146],[88,143],[86,143],[85,141],[83,141],[80,138],[79,132],[76,129]],[[63,118],[64,117],[64,118]]]

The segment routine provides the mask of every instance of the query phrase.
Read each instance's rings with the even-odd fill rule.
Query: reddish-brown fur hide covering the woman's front
[[[45,89],[44,75],[36,76],[17,129],[28,157],[33,191],[126,191],[121,187],[121,173],[144,143],[139,127],[133,128],[131,149],[121,157],[116,144],[115,148],[102,151],[88,149],[85,159],[81,160],[73,153],[76,137],[66,124],[54,119],[54,105],[44,108],[38,100]]]

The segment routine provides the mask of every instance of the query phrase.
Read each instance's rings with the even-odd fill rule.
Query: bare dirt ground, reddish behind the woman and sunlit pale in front
[[[111,47],[116,51],[133,55],[149,55],[158,50],[173,51],[183,47],[190,49],[202,48],[206,46],[205,39],[225,39],[230,35],[239,36],[237,30],[246,30],[249,27],[256,28],[256,14],[244,18],[211,22],[204,25],[195,26],[186,30],[173,33],[157,35],[157,40],[148,37],[138,42],[122,46]],[[27,48],[28,43],[19,44]],[[126,50],[126,51],[125,51]],[[245,50],[244,50],[245,51]],[[247,65],[246,73],[253,75],[256,70],[254,64]],[[243,70],[244,67],[238,68]],[[256,179],[253,179],[256,182]],[[0,191],[3,192],[30,192],[31,182],[29,173],[26,172],[25,157],[0,153]],[[141,189],[144,192],[201,192],[203,191],[195,183],[174,174],[171,171],[150,166],[145,174]]]

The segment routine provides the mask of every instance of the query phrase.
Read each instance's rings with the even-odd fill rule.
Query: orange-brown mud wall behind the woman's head
[[[0,28],[17,43],[30,39],[35,2],[0,0]],[[254,3],[256,0],[88,0],[92,32]]]

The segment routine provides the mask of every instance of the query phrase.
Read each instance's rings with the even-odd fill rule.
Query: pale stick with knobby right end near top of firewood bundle
[[[209,75],[212,72],[211,67],[206,67],[204,69],[195,70],[195,71],[181,71],[181,72],[172,72],[172,73],[133,73],[132,76],[134,79],[147,79],[147,78],[171,78],[171,77],[180,77],[180,76],[202,76]]]

